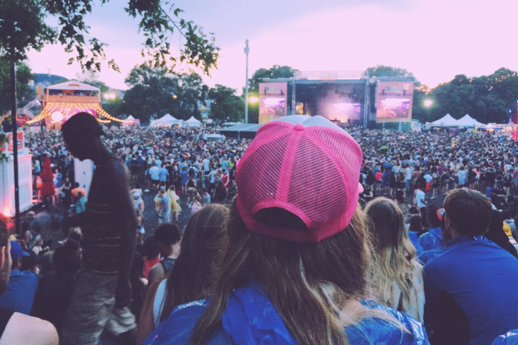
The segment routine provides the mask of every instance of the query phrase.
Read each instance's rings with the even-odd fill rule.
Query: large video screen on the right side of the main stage
[[[378,82],[376,122],[412,121],[412,82]]]

